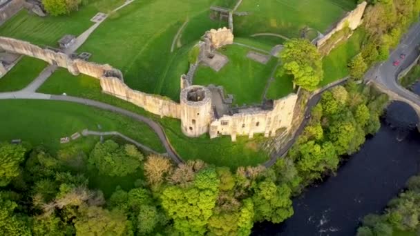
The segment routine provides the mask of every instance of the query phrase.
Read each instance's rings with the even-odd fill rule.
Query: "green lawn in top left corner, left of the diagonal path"
[[[89,0],[79,11],[59,17],[38,17],[21,10],[0,26],[0,35],[30,41],[40,46],[57,47],[57,41],[64,35],[80,35],[93,26],[90,21],[97,12],[107,12],[122,5],[123,0]]]

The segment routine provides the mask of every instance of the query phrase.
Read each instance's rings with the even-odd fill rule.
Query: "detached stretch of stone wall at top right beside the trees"
[[[367,6],[366,1],[360,3],[356,6],[354,10],[348,12],[341,21],[339,21],[336,26],[327,33],[322,39],[319,39],[316,43],[318,48],[321,48],[323,44],[334,35],[334,33],[342,30],[346,26],[348,26],[351,30],[356,30],[361,24],[363,13],[365,12],[365,8]]]

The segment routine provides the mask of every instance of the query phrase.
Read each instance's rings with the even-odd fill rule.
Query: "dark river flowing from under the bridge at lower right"
[[[420,92],[420,83],[414,90]],[[282,224],[255,224],[253,235],[355,235],[363,216],[381,213],[407,179],[419,173],[417,119],[407,104],[392,103],[379,132],[367,138],[336,176],[294,199],[291,218]]]

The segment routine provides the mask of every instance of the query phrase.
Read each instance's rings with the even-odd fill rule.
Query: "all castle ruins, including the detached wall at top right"
[[[10,1],[6,1],[10,4]],[[13,3],[23,3],[16,0]],[[18,7],[21,6],[18,4]],[[321,50],[325,44],[338,43],[334,36],[348,27],[356,29],[361,24],[361,18],[366,2],[357,6],[355,10],[339,21],[330,32],[316,41]],[[1,16],[0,8],[0,17]],[[7,18],[7,16],[6,16]],[[2,18],[0,18],[1,23]],[[334,36],[334,37],[333,37]],[[334,42],[329,42],[334,39]],[[207,31],[196,47],[199,48],[198,60],[190,65],[187,75],[180,77],[180,103],[160,95],[151,95],[133,90],[126,86],[122,72],[108,64],[97,64],[86,61],[86,57],[66,55],[62,50],[54,48],[40,48],[32,43],[8,37],[0,37],[0,49],[19,55],[26,55],[47,61],[67,70],[72,75],[84,74],[99,79],[102,91],[129,101],[144,110],[160,117],[172,117],[181,120],[181,129],[188,137],[199,137],[209,133],[211,138],[220,135],[230,135],[236,141],[238,135],[247,135],[249,138],[255,134],[264,134],[265,137],[274,137],[281,130],[282,135],[294,132],[293,121],[296,118],[296,108],[299,107],[299,96],[290,94],[282,99],[265,102],[258,106],[232,108],[232,97],[225,97],[223,89],[219,86],[193,85],[193,77],[199,63],[204,63],[220,70],[229,59],[217,51],[218,48],[233,43],[233,33],[230,28]],[[64,44],[66,44],[64,42]],[[65,45],[64,45],[65,46]],[[0,65],[0,72],[4,72]],[[297,119],[297,118],[296,118]],[[300,118],[299,118],[300,119]]]

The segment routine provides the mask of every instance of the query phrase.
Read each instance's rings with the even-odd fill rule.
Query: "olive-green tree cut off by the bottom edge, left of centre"
[[[128,220],[119,210],[104,210],[97,206],[82,206],[75,219],[76,235],[131,235]]]

